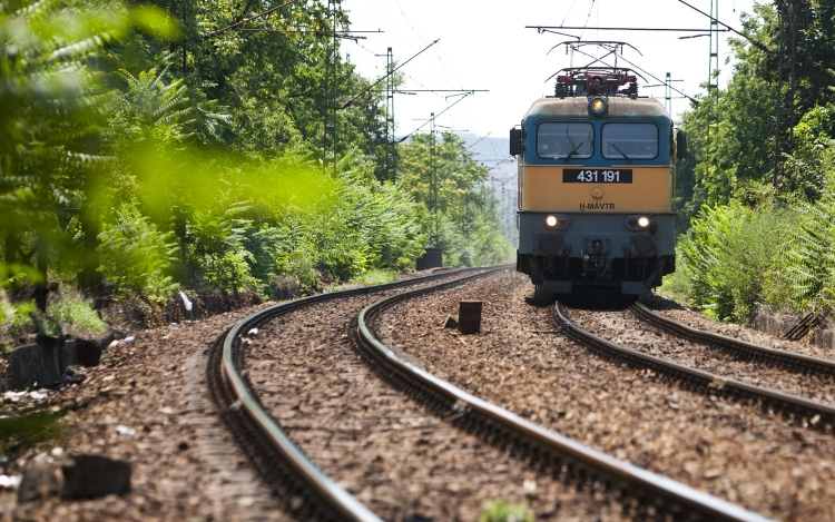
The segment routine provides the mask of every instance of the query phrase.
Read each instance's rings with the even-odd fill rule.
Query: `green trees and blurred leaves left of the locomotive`
[[[386,178],[384,95],[347,62],[351,102],[325,138],[326,1],[246,22],[269,31],[239,30],[264,2],[168,3],[0,0],[0,324],[46,313],[56,287],[158,306],[380,278],[413,269],[431,233],[453,265],[508,257],[487,170],[458,138],[442,206],[423,197],[423,137]],[[78,303],[51,309],[81,317]]]

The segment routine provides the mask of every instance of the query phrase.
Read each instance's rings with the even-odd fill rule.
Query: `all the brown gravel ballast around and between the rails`
[[[833,436],[600,360],[554,331],[550,311],[525,301],[532,294],[524,276],[503,272],[399,305],[377,327],[384,343],[426,371],[597,450],[775,519],[835,520]],[[249,348],[250,381],[314,462],[386,520],[471,521],[498,498],[527,501],[537,520],[629,520],[616,501],[533,471],[381,381],[346,332],[358,309],[381,297],[297,312],[298,321],[265,325]],[[461,299],[483,301],[480,334],[443,328]],[[60,461],[53,447],[105,455],[131,463],[130,493],[2,510],[23,521],[291,520],[235,447],[205,390],[207,349],[257,308],[131,333],[135,341],[106,351],[82,382],[42,400],[69,410],[65,435],[2,465],[19,475],[40,451]],[[664,313],[822,355],[686,309]],[[612,319],[598,333],[631,337],[630,325]],[[657,337],[646,329],[635,335]],[[713,352],[705,354],[710,364]]]

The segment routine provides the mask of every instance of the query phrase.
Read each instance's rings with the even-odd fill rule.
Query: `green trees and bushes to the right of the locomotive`
[[[730,40],[737,61],[718,101],[705,97],[681,124],[694,152],[679,168],[679,270],[666,287],[720,321],[747,322],[758,306],[805,314],[835,305],[835,4],[794,4],[794,112],[780,61]],[[779,49],[774,4],[743,13],[747,35]],[[788,144],[774,183],[775,100]],[[709,115],[714,115],[713,121]],[[710,139],[708,139],[708,129]]]

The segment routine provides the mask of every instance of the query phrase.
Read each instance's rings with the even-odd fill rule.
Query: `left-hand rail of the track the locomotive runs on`
[[[831,430],[832,426],[835,425],[835,407],[828,404],[723,377],[703,370],[674,363],[672,361],[627,348],[626,346],[620,346],[577,326],[562,313],[559,303],[557,303],[554,309],[560,322],[567,328],[569,337],[601,355],[621,358],[633,365],[649,367],[681,380],[694,388],[701,388],[703,391],[709,390],[711,393],[720,392],[728,395],[738,395],[741,397],[763,401],[764,404],[774,405],[785,412],[799,414],[807,423],[816,429],[825,429],[826,426],[829,426]]]

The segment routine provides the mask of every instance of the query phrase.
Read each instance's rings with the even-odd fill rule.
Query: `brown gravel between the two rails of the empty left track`
[[[628,520],[617,502],[531,470],[371,372],[346,329],[382,297],[293,313],[263,326],[248,348],[249,378],[263,404],[320,467],[385,520],[474,521],[499,498],[527,501],[537,520]]]

